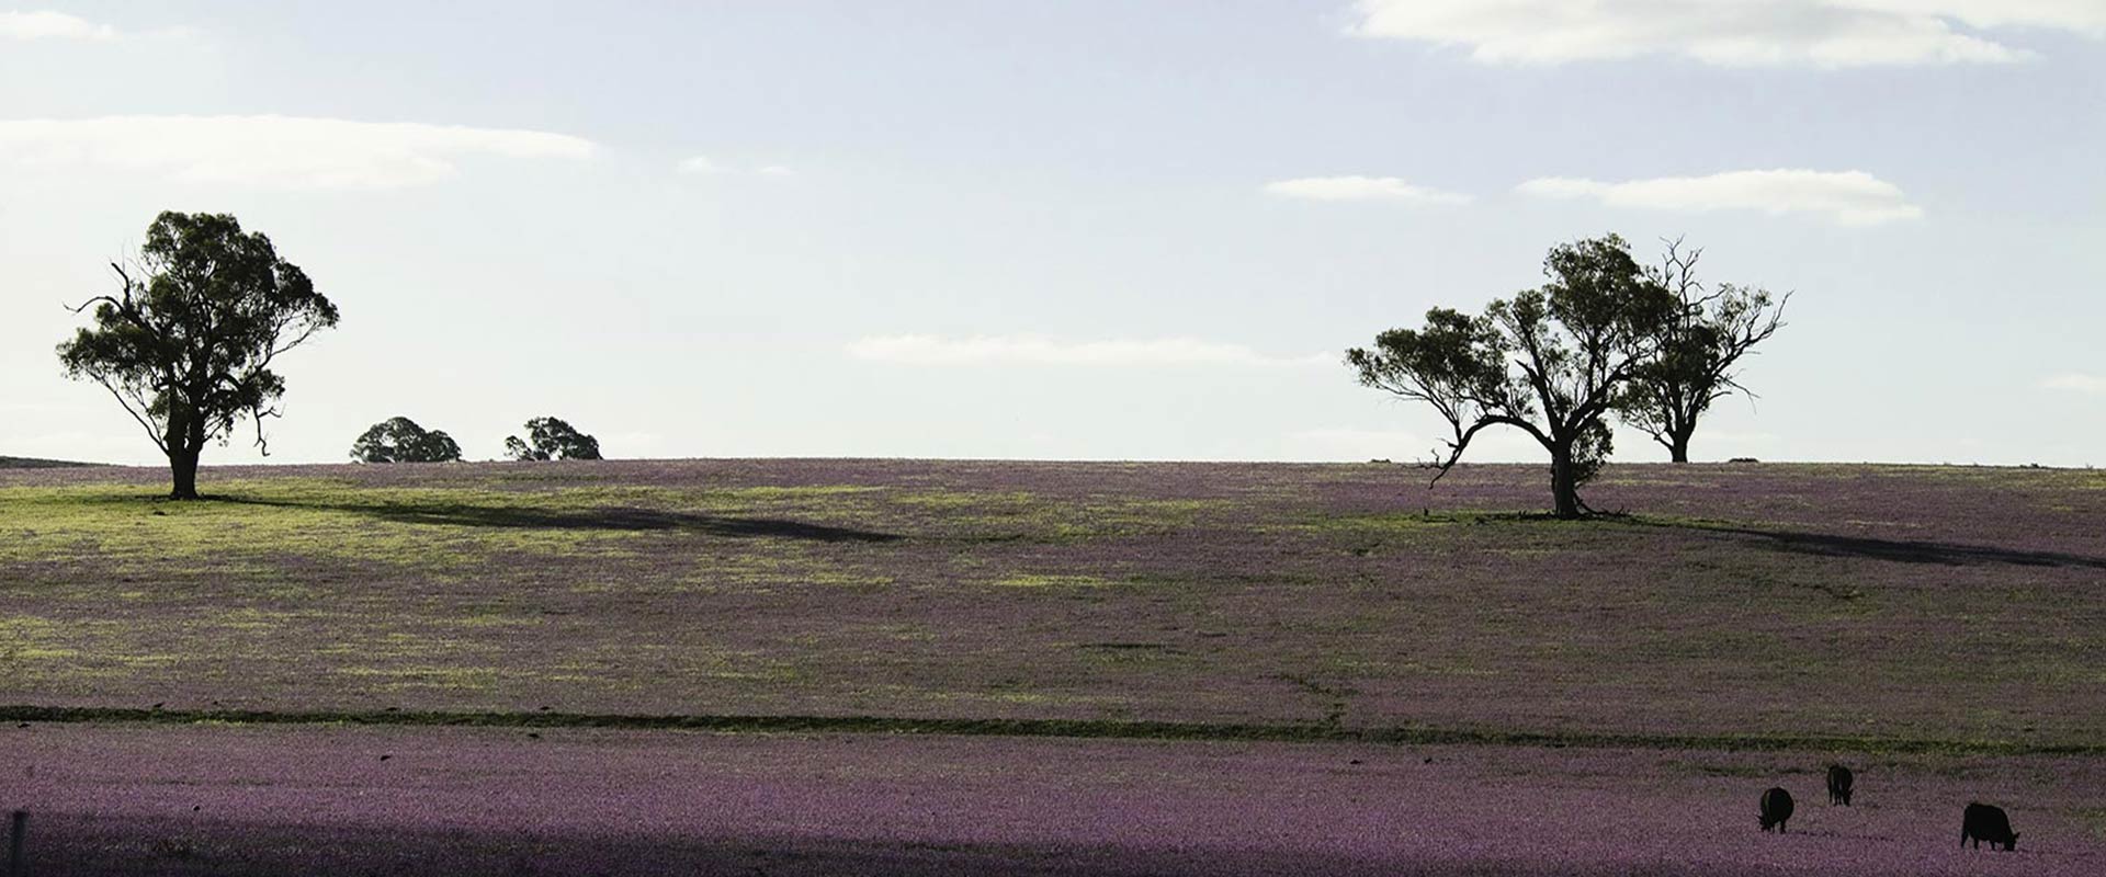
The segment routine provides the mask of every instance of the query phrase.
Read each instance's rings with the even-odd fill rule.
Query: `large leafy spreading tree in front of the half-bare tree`
[[[1674,297],[1605,236],[1561,244],[1544,259],[1548,284],[1493,301],[1485,315],[1426,311],[1424,328],[1392,328],[1373,349],[1346,351],[1360,383],[1432,406],[1453,429],[1426,467],[1447,475],[1489,427],[1514,427],[1550,452],[1558,517],[1580,517],[1580,486],[1611,452],[1603,416],[1641,364]]]

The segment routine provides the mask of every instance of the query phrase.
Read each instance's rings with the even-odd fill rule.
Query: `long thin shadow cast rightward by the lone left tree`
[[[687,530],[729,538],[802,538],[815,543],[895,543],[895,532],[838,528],[781,517],[697,515],[638,507],[535,509],[468,503],[293,503],[251,496],[215,496],[219,503],[286,509],[331,509],[398,524],[444,524],[524,530]]]

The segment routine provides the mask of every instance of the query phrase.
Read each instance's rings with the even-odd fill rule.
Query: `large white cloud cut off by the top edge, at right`
[[[1868,67],[2030,57],[1967,32],[2005,27],[2106,38],[2106,2],[1358,0],[1348,32],[1468,46],[1481,63],[1668,55],[1721,67]]]

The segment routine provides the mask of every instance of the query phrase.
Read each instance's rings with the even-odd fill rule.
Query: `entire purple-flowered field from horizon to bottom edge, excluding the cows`
[[[2106,873],[2106,473],[164,477],[0,471],[0,808],[78,873]],[[432,713],[520,726],[329,723]],[[556,728],[752,715],[1192,738]]]

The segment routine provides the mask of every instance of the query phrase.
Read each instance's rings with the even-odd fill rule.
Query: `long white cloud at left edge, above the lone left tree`
[[[453,177],[470,156],[575,160],[594,149],[543,130],[297,116],[0,120],[0,164],[278,189],[423,185]]]

